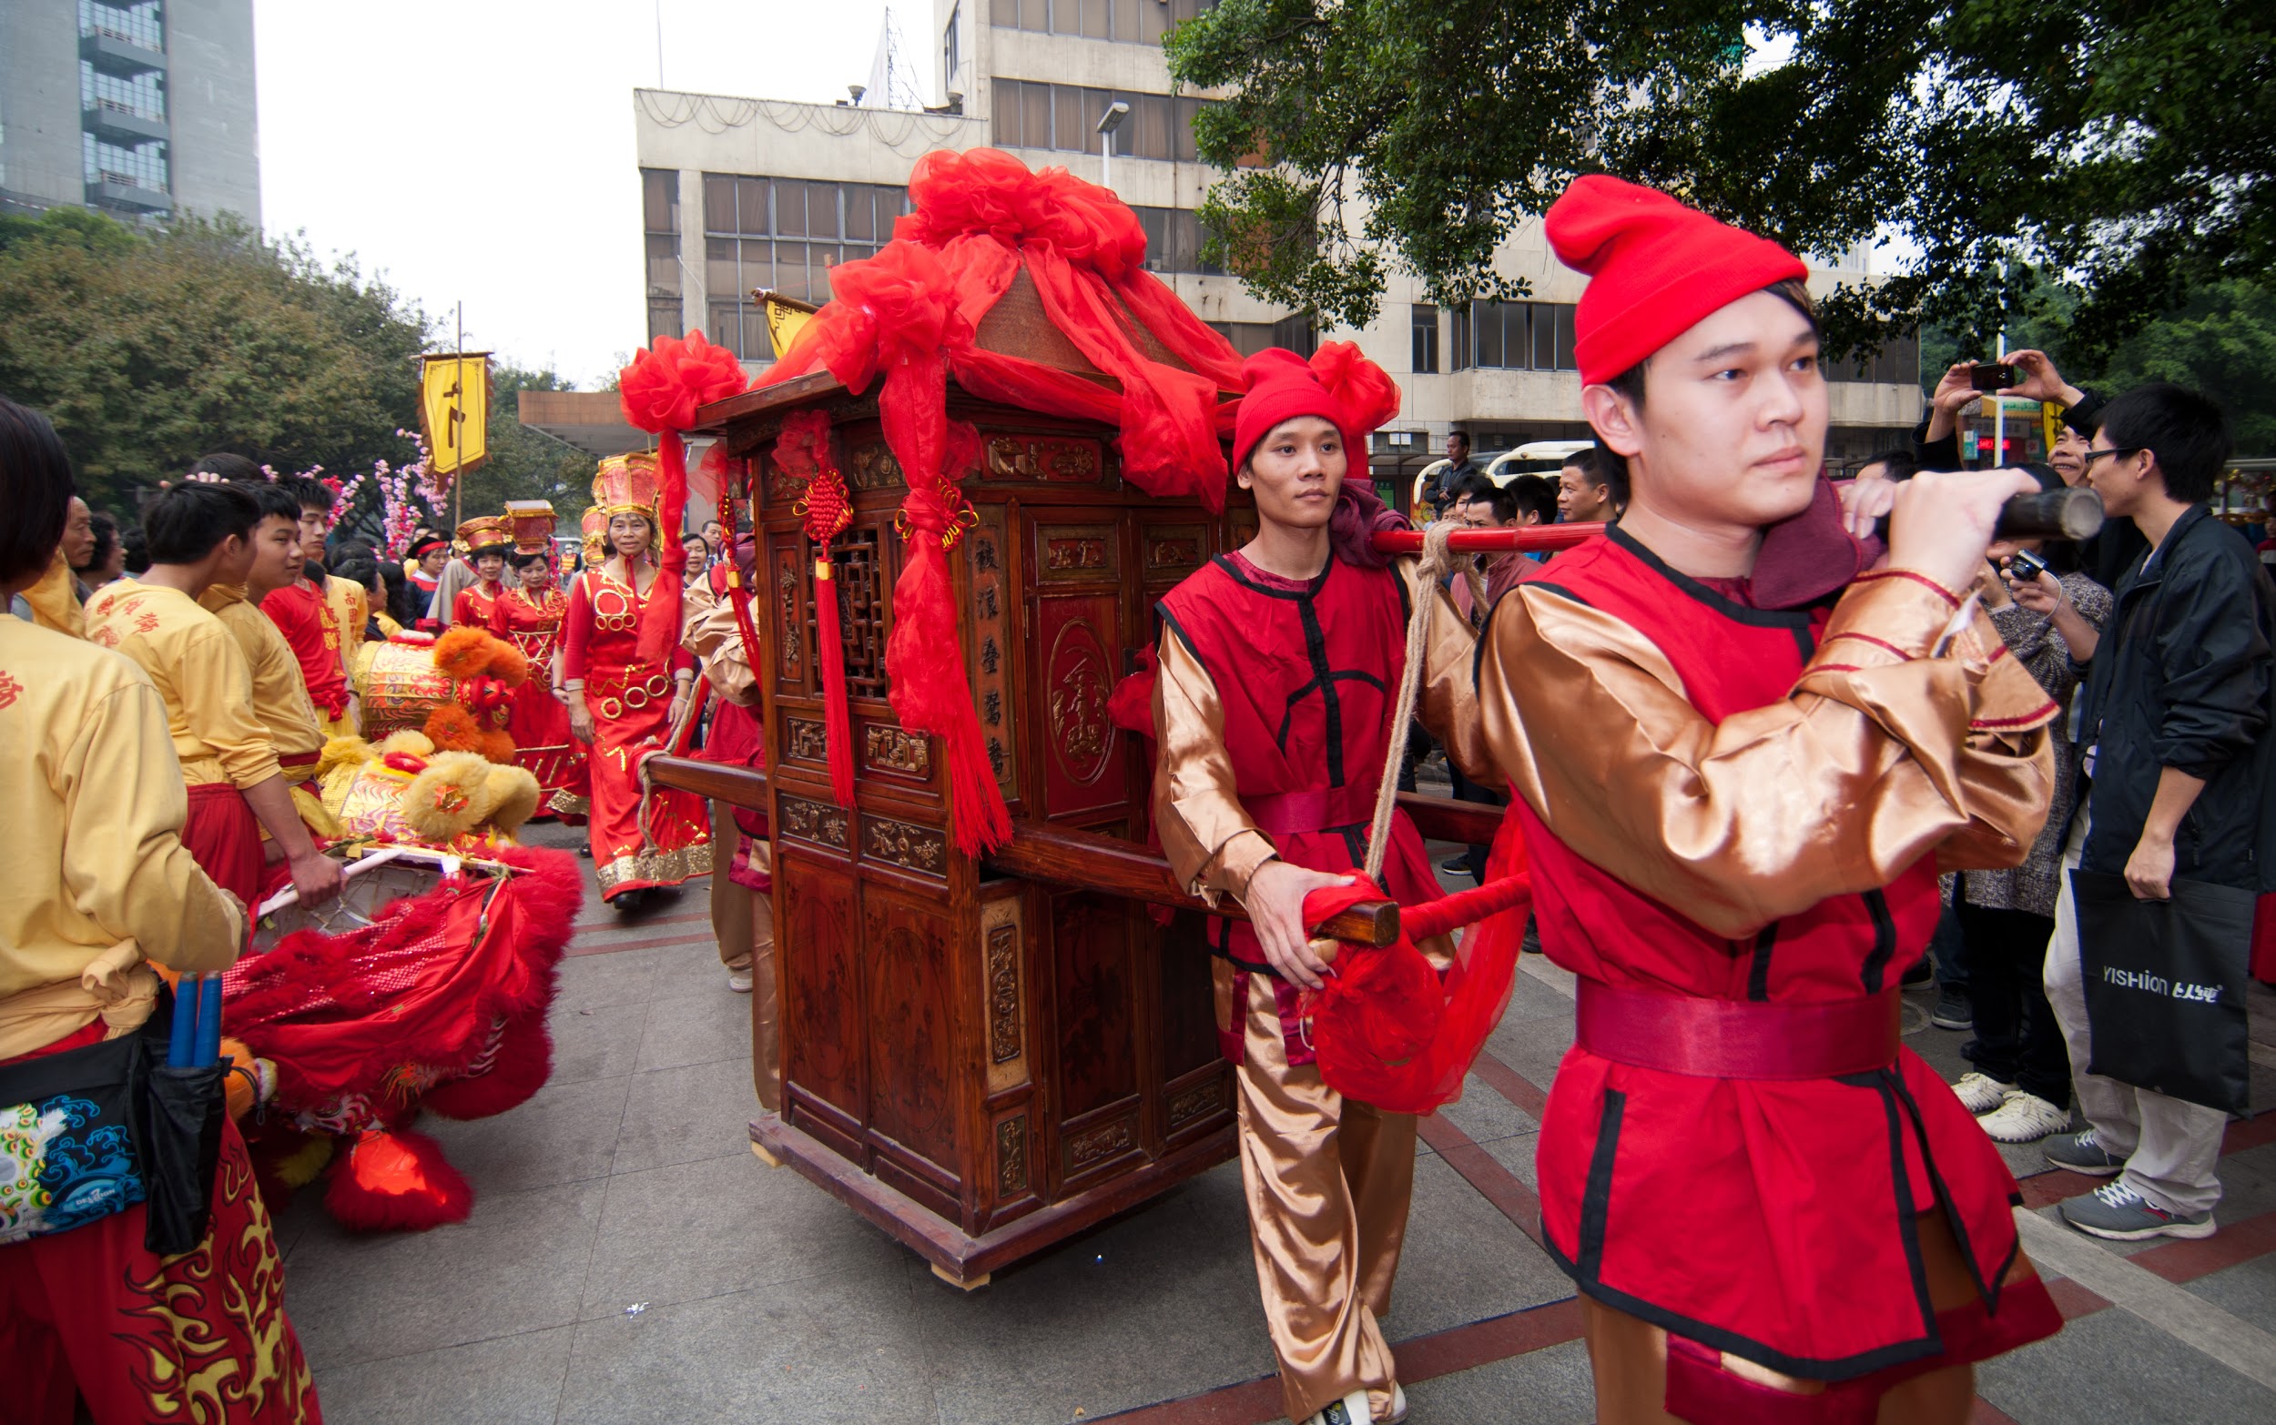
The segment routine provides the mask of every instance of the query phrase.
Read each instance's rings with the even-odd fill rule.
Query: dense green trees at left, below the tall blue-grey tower
[[[0,392],[48,412],[98,505],[130,512],[207,451],[401,462],[426,328],[353,257],[234,221],[146,232],[59,207],[0,225]]]

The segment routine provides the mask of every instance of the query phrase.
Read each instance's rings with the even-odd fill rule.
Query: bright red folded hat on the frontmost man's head
[[[1545,228],[1557,257],[1589,273],[1573,314],[1582,385],[1634,369],[1741,296],[1809,275],[1771,239],[1605,173],[1575,178]]]

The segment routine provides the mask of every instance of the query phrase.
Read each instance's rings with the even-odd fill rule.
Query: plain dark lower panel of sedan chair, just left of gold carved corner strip
[[[947,917],[874,883],[863,890],[869,1127],[954,1177],[947,938]]]

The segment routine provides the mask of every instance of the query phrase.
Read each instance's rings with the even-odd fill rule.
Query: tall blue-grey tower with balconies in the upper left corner
[[[0,212],[262,221],[253,0],[0,5]]]

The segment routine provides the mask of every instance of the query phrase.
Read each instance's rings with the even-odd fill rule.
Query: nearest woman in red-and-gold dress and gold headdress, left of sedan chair
[[[687,712],[696,662],[674,642],[669,665],[640,658],[640,619],[655,583],[655,455],[610,455],[592,480],[608,517],[608,562],[585,569],[562,628],[569,731],[592,747],[592,865],[601,895],[635,908],[655,886],[710,874],[710,808],[658,788],[640,813],[640,760]]]

